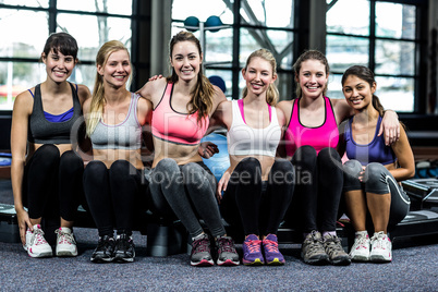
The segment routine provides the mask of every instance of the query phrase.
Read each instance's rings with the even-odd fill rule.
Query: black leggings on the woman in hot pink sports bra
[[[287,220],[305,233],[334,231],[343,186],[339,154],[327,147],[317,155],[306,145],[295,151],[292,163],[296,184]]]

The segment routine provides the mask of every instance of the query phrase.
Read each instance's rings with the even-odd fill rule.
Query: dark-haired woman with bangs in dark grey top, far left
[[[31,257],[52,255],[41,230],[42,218],[59,220],[56,255],[77,255],[72,228],[83,192],[84,162],[74,154],[70,137],[90,94],[86,86],[66,81],[76,56],[77,44],[71,35],[50,35],[41,53],[46,81],[21,93],[14,104],[12,188],[21,240]],[[50,235],[46,235],[49,241]]]

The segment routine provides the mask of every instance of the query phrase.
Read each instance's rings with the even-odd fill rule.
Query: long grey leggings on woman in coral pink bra
[[[203,162],[178,166],[173,159],[162,159],[149,181],[154,212],[167,217],[173,212],[192,238],[203,232],[198,216],[211,235],[226,234],[215,197],[216,179]]]

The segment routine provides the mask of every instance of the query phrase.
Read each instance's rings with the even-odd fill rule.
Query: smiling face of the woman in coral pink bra
[[[179,80],[190,82],[196,80],[203,56],[193,41],[179,41],[173,45],[170,63]]]

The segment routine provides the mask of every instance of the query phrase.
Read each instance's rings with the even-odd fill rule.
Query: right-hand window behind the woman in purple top
[[[425,70],[419,69],[421,17],[426,1],[327,0],[327,59],[331,66],[329,95],[343,98],[341,76],[353,64],[369,66],[385,108],[424,112]],[[426,13],[426,14],[425,14]]]

